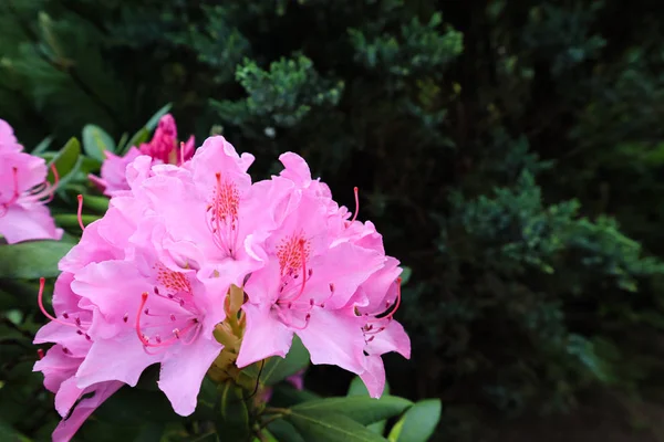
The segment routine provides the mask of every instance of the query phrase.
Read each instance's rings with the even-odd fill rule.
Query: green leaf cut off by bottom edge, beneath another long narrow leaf
[[[380,442],[385,439],[343,414],[292,410],[286,415],[305,441]]]

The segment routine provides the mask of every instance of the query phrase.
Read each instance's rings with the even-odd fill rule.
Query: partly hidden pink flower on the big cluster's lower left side
[[[44,375],[44,387],[55,393],[55,410],[62,417],[53,432],[53,441],[69,441],[85,419],[101,406],[123,383],[107,381],[81,388],[76,383],[76,371],[87,356],[92,338],[87,334],[92,322],[92,312],[79,306],[80,297],[70,287],[71,273],[63,273],[55,283],[53,307],[56,317],[45,312],[41,302],[43,280],[40,288],[40,307],[53,320],[42,327],[35,344],[54,343],[34,365],[34,371]]]

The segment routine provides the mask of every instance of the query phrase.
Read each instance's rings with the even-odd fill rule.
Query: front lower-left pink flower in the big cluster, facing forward
[[[203,283],[194,271],[141,256],[89,264],[72,288],[98,309],[77,385],[120,380],[133,387],[145,368],[159,362],[158,385],[173,409],[194,412],[203,378],[222,348],[212,330],[225,318],[228,284]]]

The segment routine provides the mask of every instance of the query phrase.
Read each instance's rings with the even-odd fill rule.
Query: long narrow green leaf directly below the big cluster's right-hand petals
[[[300,403],[292,408],[298,412],[321,412],[343,414],[357,423],[367,425],[401,414],[413,402],[396,396],[383,396],[380,400],[351,396],[346,398],[326,398]]]

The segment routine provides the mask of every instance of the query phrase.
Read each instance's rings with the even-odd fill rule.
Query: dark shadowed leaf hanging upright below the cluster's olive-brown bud
[[[249,410],[242,388],[232,382],[226,382],[219,390],[218,414],[215,422],[217,434],[224,434],[224,439],[229,441],[250,441]]]

